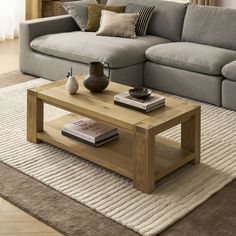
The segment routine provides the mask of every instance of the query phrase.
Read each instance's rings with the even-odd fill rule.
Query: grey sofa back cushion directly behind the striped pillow
[[[188,4],[164,0],[108,0],[108,5],[127,5],[137,3],[155,6],[147,34],[156,35],[171,41],[180,41],[184,16]]]

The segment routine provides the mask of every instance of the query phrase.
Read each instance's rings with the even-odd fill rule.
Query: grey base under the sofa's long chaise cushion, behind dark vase
[[[88,74],[87,64],[51,57],[30,50],[27,57],[21,58],[20,70],[23,73],[49,80],[60,80],[66,77],[70,68],[74,74]],[[111,69],[111,81],[139,87],[143,85],[143,64],[128,66],[120,69]]]

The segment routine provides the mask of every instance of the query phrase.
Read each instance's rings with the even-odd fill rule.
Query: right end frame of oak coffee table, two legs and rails
[[[193,110],[184,113],[174,119],[168,120],[163,124],[156,126],[155,123],[138,123],[134,133],[134,186],[145,193],[152,193],[155,189],[155,181],[170,174],[179,167],[192,162],[200,162],[200,116],[201,108],[196,106]],[[147,120],[148,121],[148,120]],[[183,160],[176,163],[162,174],[155,175],[154,144],[155,136],[168,130],[178,124],[181,124],[181,148],[189,151],[191,154]]]

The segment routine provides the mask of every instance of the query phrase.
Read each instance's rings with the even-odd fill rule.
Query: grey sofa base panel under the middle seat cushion
[[[152,62],[147,62],[144,66],[146,87],[217,106],[221,106],[222,80],[221,76],[200,74]]]

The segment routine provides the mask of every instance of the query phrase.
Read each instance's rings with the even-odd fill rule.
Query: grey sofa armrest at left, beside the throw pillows
[[[20,24],[20,44],[30,42],[39,36],[79,30],[70,15],[24,21]]]

